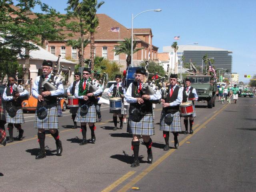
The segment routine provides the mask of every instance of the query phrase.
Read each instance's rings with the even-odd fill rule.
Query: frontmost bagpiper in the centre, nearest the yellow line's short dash
[[[131,167],[140,166],[139,139],[141,135],[147,148],[148,163],[153,161],[152,140],[150,136],[155,134],[155,128],[150,100],[159,100],[161,98],[160,92],[150,96],[142,94],[142,83],[146,82],[146,70],[144,67],[138,68],[134,76],[136,81],[130,84],[125,94],[126,101],[130,103],[127,132],[132,133],[133,137],[132,150],[134,152],[134,162],[131,164]]]

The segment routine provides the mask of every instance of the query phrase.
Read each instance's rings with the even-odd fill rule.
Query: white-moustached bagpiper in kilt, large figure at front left
[[[43,75],[38,76],[34,82],[32,88],[32,95],[34,98],[38,99],[38,104],[36,108],[36,120],[35,128],[38,129],[38,141],[40,145],[40,151],[36,156],[36,159],[42,159],[46,157],[46,152],[44,149],[45,140],[45,130],[50,130],[52,137],[56,143],[57,156],[62,154],[62,143],[60,141],[60,136],[58,132],[58,110],[57,110],[57,97],[64,94],[64,88],[60,79],[51,74],[52,72],[52,61],[43,61],[42,64]],[[42,87],[42,82],[44,80],[51,80],[54,82],[56,79],[57,90],[48,91]]]

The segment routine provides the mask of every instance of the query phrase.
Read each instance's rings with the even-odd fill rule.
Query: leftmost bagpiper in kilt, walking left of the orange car
[[[16,86],[15,77],[8,77],[8,85],[4,89],[3,100],[6,101],[6,122],[8,123],[9,130],[9,140],[8,142],[13,142],[13,126],[19,131],[18,138],[21,139],[24,133],[24,130],[21,128],[21,124],[25,122],[23,111],[22,111],[22,100],[21,97],[29,96],[27,90],[24,90],[21,93],[15,91],[14,86]]]

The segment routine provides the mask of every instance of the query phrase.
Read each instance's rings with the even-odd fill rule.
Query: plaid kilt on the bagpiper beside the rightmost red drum
[[[180,112],[176,112],[173,114],[172,124],[169,126],[164,122],[165,112],[162,110],[160,117],[160,130],[161,131],[170,131],[170,132],[181,132],[180,125]]]

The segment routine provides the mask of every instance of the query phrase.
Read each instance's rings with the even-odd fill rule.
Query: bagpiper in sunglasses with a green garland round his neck
[[[87,144],[86,140],[86,123],[88,123],[89,128],[91,130],[91,139],[90,142],[94,143],[96,140],[94,131],[96,130],[96,126],[94,123],[96,122],[96,103],[98,99],[95,96],[100,95],[103,90],[99,87],[95,92],[89,92],[88,85],[91,82],[91,70],[89,68],[84,68],[83,70],[83,78],[80,80],[79,84],[76,84],[75,96],[79,99],[79,108],[76,113],[75,122],[81,123],[81,130],[83,140],[80,145]]]

